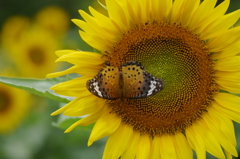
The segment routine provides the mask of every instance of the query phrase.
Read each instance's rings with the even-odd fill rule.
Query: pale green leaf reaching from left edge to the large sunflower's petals
[[[66,97],[54,93],[50,88],[60,82],[70,80],[69,76],[47,79],[24,79],[16,77],[3,77],[0,76],[0,82],[12,87],[29,91],[33,94],[46,97],[58,102],[68,103],[72,100],[71,97]]]

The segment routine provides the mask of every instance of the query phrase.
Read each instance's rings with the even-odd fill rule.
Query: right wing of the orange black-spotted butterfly
[[[143,65],[130,61],[122,65],[123,98],[141,99],[164,88],[164,81],[146,72]]]

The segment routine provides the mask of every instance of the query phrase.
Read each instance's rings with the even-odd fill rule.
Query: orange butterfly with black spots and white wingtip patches
[[[106,67],[87,81],[86,86],[93,95],[103,99],[142,99],[161,91],[165,83],[146,72],[140,62],[129,61],[121,67],[106,63]]]

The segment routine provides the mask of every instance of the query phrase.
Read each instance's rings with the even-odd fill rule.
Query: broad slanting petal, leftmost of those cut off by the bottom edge
[[[119,128],[109,136],[104,149],[103,159],[119,158],[130,146],[132,135],[133,128],[129,125],[121,124]]]

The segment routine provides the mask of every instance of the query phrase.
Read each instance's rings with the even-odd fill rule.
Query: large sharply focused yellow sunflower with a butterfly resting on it
[[[225,14],[230,0],[106,0],[109,16],[89,7],[73,22],[80,36],[101,53],[57,51],[57,62],[74,66],[48,75],[79,78],[52,87],[76,97],[52,113],[87,115],[70,126],[94,122],[88,145],[109,136],[104,159],[199,159],[237,156],[233,122],[240,122],[240,10]],[[144,99],[108,100],[94,96],[86,82],[105,63],[120,68],[141,62],[165,82]]]

